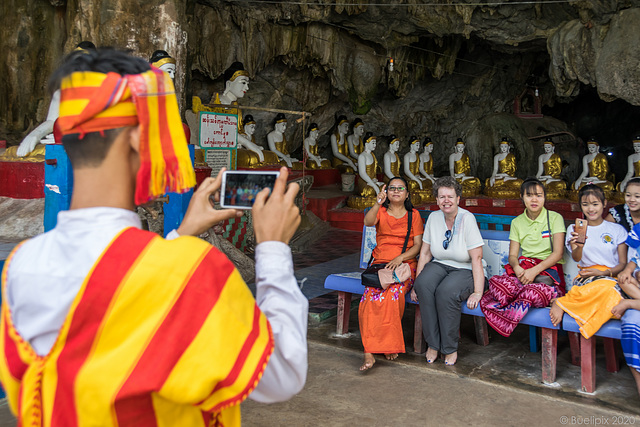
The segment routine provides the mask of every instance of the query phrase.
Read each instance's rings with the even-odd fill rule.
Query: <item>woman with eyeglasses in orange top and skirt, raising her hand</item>
[[[402,333],[405,295],[413,285],[416,255],[422,245],[422,218],[411,204],[407,182],[403,178],[394,177],[388,185],[382,187],[376,204],[364,217],[364,225],[376,227],[376,247],[372,253],[372,262],[386,264],[385,268],[393,271],[402,263],[408,263],[411,277],[402,283],[393,283],[384,290],[365,287],[358,309],[364,347],[361,371],[373,367],[376,362],[374,353],[383,353],[387,360],[395,360],[398,353],[405,352]],[[411,230],[408,230],[409,212]],[[403,252],[405,240],[407,245]]]

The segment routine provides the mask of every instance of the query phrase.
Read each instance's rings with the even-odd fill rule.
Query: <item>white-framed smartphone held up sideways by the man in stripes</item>
[[[224,171],[220,206],[226,209],[251,209],[256,195],[276,183],[280,171]]]

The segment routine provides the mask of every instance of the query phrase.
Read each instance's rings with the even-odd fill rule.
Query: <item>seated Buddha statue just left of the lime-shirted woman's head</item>
[[[516,177],[516,156],[511,153],[509,138],[500,141],[500,152],[493,156],[493,173],[485,182],[485,194],[497,199],[520,197],[522,180]]]

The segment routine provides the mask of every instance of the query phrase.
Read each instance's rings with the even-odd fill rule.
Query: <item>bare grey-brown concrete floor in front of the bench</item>
[[[427,368],[426,362],[378,359],[363,374],[359,352],[317,341],[310,342],[309,356],[304,390],[284,403],[243,403],[245,426],[640,423],[626,411],[469,378],[455,368]]]

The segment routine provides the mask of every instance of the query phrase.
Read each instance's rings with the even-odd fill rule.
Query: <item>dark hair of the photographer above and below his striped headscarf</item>
[[[54,71],[49,79],[51,92],[60,88],[60,82],[68,75],[78,71],[95,71],[98,73],[140,74],[150,70],[149,63],[129,53],[100,48],[88,51],[74,51],[67,55],[62,65]],[[99,166],[111,148],[122,128],[110,129],[104,132],[90,132],[84,135],[70,134],[62,138],[71,165],[78,167]]]

